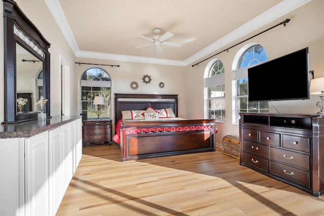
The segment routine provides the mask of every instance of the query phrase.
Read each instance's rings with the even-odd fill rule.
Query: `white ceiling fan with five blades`
[[[160,37],[158,37],[158,34],[161,33],[161,29],[154,28],[153,32],[155,34],[153,39],[145,37],[145,36],[140,35],[140,34],[136,35],[138,37],[141,37],[143,39],[151,41],[151,43],[141,45],[141,46],[137,46],[135,48],[142,48],[142,47],[146,47],[146,46],[150,46],[150,45],[155,45],[157,53],[162,53],[163,49],[162,49],[161,45],[166,45],[166,46],[171,46],[171,47],[181,47],[182,46],[181,43],[166,41],[167,39],[169,39],[170,37],[172,37],[174,35],[173,33],[169,32],[169,31],[167,31],[164,35],[162,35]]]

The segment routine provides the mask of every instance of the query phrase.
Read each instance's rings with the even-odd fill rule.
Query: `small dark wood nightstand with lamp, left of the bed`
[[[112,120],[85,120],[82,122],[83,147],[87,143],[109,143],[112,141]]]

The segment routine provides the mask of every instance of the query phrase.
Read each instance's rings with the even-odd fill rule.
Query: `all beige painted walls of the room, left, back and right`
[[[43,33],[44,37],[51,43],[49,49],[51,53],[51,114],[60,114],[60,94],[58,87],[60,86],[60,58],[62,57],[69,68],[69,112],[70,114],[78,114],[77,106],[77,79],[91,65],[78,65],[75,62],[95,63],[95,64],[113,64],[120,67],[102,66],[106,69],[112,79],[112,93],[145,93],[145,94],[178,94],[179,95],[179,116],[186,118],[204,118],[204,71],[208,61],[200,63],[198,66],[187,67],[165,66],[155,64],[142,64],[133,62],[117,62],[99,59],[83,59],[74,58],[74,55],[65,41],[59,27],[55,23],[51,13],[49,12],[43,0],[30,1],[17,0],[19,7],[27,15],[27,17],[35,24],[35,26]],[[37,7],[35,7],[37,5]],[[290,18],[290,23],[286,27],[280,25],[257,37],[250,39],[228,52],[223,52],[214,58],[220,59],[225,66],[226,76],[226,121],[225,123],[217,123],[219,132],[217,134],[217,143],[221,142],[223,136],[227,134],[238,135],[238,125],[233,124],[232,119],[232,63],[238,50],[250,43],[256,42],[261,44],[268,54],[268,59],[274,59],[282,55],[286,55],[293,51],[309,47],[309,64],[310,70],[314,70],[315,78],[324,76],[324,31],[322,23],[324,23],[324,15],[321,10],[324,8],[324,1],[313,0],[303,7],[291,12],[285,17],[279,17],[275,24]],[[3,11],[3,5],[1,9]],[[3,17],[0,21],[0,28],[3,29]],[[238,42],[249,38],[269,27],[268,24],[262,29],[251,32],[234,41],[232,44],[222,48],[222,50],[237,44]],[[3,41],[3,34],[0,34],[0,40]],[[217,38],[215,38],[216,40]],[[0,49],[3,50],[3,42],[0,42]],[[221,50],[220,50],[221,51]],[[220,51],[207,55],[212,56]],[[203,60],[200,59],[199,61]],[[0,52],[0,64],[3,65],[4,56]],[[197,61],[197,62],[199,62]],[[194,64],[194,63],[193,63]],[[150,75],[151,83],[143,83],[143,75]],[[0,72],[0,85],[4,85],[3,70]],[[280,77],[278,77],[280,78]],[[139,83],[138,90],[130,89],[130,82],[137,81]],[[166,84],[164,89],[158,87],[158,82],[163,81]],[[315,103],[318,96],[311,96],[310,100],[304,101],[284,101],[272,102],[280,113],[316,113],[318,108]],[[0,94],[0,103],[4,104],[4,95]],[[275,111],[271,106],[270,109]],[[4,107],[0,106],[0,121],[4,120]]]

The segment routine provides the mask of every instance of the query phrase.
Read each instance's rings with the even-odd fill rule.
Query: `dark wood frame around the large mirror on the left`
[[[43,37],[41,32],[25,16],[12,0],[3,0],[4,2],[4,42],[5,42],[5,122],[16,123],[26,120],[37,119],[37,112],[17,115],[16,102],[16,42],[19,42],[31,54],[43,62],[43,88],[44,97],[48,99],[46,103],[46,115],[50,116],[50,53],[48,49],[51,44]],[[14,25],[28,36],[43,52],[44,56],[39,55],[25,41],[14,33]]]

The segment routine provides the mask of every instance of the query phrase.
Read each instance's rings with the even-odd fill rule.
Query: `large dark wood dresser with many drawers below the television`
[[[324,118],[308,114],[240,113],[240,164],[324,194]]]

